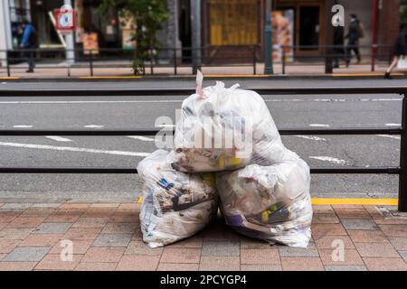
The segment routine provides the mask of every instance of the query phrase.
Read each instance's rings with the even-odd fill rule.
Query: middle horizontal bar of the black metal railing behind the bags
[[[138,129],[138,130],[30,130],[5,129],[0,130],[0,136],[45,136],[45,135],[71,135],[71,136],[118,136],[118,135],[156,135],[160,131],[174,132],[174,128]],[[279,129],[280,135],[401,135],[402,127],[349,127],[349,128],[304,128]]]

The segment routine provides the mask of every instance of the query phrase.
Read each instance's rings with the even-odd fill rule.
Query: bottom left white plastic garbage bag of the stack
[[[214,175],[176,172],[172,157],[172,153],[157,150],[137,165],[144,182],[141,231],[149,247],[193,236],[218,210]]]

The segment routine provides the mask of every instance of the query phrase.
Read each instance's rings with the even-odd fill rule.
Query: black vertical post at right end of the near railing
[[[402,141],[400,149],[399,210],[407,211],[407,93],[402,98]]]

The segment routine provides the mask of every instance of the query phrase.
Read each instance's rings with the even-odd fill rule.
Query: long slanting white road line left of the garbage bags
[[[92,149],[92,148],[81,148],[81,147],[70,147],[70,146],[54,146],[54,145],[44,145],[44,144],[18,144],[18,143],[0,142],[0,145],[1,146],[21,147],[21,148],[41,149],[41,150],[92,153],[92,154],[115,154],[115,155],[128,155],[128,156],[148,156],[148,155],[150,155],[148,153],[108,151],[108,150],[97,150],[97,149]]]

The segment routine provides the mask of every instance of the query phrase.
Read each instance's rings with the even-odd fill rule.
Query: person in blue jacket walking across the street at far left
[[[28,70],[26,72],[33,72],[35,68],[35,51],[38,46],[38,37],[35,27],[28,20],[23,21],[23,35],[20,42],[20,48],[26,50],[23,52],[24,59],[28,62]]]

